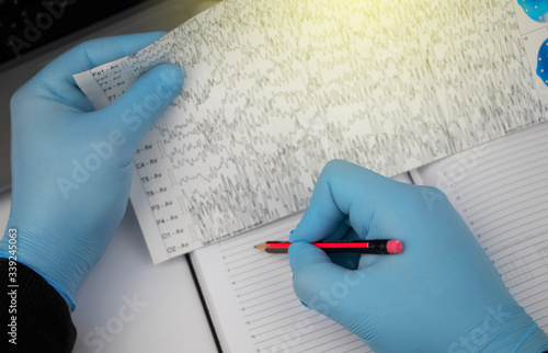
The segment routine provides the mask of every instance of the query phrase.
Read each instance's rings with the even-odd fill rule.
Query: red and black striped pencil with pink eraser
[[[287,253],[292,243],[287,241],[266,241],[255,246],[256,249],[269,253]],[[368,241],[342,241],[342,242],[312,242],[313,246],[327,253],[345,254],[396,254],[403,251],[401,241],[393,239],[368,240]]]

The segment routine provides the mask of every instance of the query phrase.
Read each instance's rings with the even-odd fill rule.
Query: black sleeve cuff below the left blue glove
[[[10,261],[1,258],[0,352],[70,352],[76,328],[67,301],[24,264],[16,263],[16,271],[9,267]]]

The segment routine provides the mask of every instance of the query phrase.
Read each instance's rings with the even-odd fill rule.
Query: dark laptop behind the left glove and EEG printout
[[[11,185],[10,99],[50,60],[103,36],[171,31],[219,1],[0,0],[0,192]]]

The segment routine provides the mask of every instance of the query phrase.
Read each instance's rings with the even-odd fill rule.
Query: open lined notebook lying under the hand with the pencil
[[[548,333],[548,124],[411,172],[441,187],[511,294]],[[196,250],[191,259],[225,352],[370,352],[302,306],[286,255],[253,244],[286,240],[300,214]]]

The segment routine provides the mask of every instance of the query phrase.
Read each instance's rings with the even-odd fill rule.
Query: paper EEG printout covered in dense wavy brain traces
[[[227,0],[76,79],[100,109],[186,72],[135,160],[158,263],[304,210],[331,159],[396,175],[546,121],[514,2]]]

